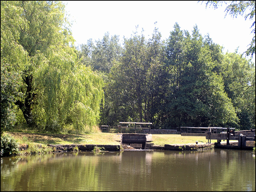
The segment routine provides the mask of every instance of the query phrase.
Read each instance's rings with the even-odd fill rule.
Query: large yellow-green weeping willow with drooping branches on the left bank
[[[19,74],[12,101],[28,127],[96,124],[103,82],[78,62],[69,27],[61,1],[1,1],[1,67]]]

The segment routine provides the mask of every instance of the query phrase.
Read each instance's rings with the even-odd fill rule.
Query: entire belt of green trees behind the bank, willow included
[[[89,40],[60,1],[1,1],[1,130],[85,132],[120,121],[154,128],[255,128],[255,64],[175,23],[166,40]],[[254,48],[255,49],[255,48]],[[251,54],[251,53],[250,53]]]

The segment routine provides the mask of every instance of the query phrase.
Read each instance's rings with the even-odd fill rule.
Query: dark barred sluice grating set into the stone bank
[[[134,149],[146,149],[146,134],[123,134],[122,145],[131,146]]]

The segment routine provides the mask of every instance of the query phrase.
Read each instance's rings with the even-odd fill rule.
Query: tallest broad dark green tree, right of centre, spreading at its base
[[[219,126],[237,121],[235,110],[224,92],[222,78],[218,74],[221,49],[209,37],[204,39],[194,27],[192,34],[182,35],[177,24],[170,33],[167,47],[167,63],[176,63],[177,52],[172,51],[183,44],[182,60],[179,62],[176,83],[170,83],[167,103],[167,125]],[[173,41],[179,36],[179,41]],[[183,42],[181,42],[183,41]],[[170,71],[171,72],[171,71]],[[170,75],[170,82],[173,76]]]

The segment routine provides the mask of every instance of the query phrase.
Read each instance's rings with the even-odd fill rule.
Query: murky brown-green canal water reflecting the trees
[[[255,156],[212,149],[3,157],[1,191],[255,191]]]

